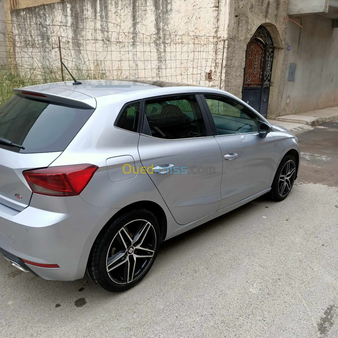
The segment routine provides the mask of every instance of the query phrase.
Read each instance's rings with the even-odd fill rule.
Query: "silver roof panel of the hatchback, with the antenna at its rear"
[[[66,89],[82,93],[90,97],[99,97],[112,94],[127,94],[127,92],[144,91],[160,87],[191,86],[186,83],[176,83],[159,80],[80,80],[81,84],[73,84],[73,81],[38,84],[24,87],[25,90],[50,93]]]

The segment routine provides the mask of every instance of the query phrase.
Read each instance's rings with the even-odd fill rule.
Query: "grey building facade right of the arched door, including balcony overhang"
[[[290,0],[289,18],[280,115],[337,106],[338,1]]]

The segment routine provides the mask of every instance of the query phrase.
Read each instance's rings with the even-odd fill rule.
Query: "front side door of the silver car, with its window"
[[[219,209],[269,188],[274,138],[258,133],[259,116],[239,101],[201,95],[215,139],[222,150],[223,174]]]

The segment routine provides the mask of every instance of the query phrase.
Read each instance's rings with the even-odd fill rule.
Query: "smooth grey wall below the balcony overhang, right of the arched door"
[[[286,78],[281,115],[338,105],[338,29],[318,15],[293,20],[303,28],[288,24],[286,76],[290,63],[296,72],[293,82]]]

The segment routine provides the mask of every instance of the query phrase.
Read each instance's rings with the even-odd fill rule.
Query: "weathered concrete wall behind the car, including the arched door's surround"
[[[13,25],[16,62],[25,72],[52,65],[56,74],[61,35],[64,61],[73,70],[220,87],[239,97],[246,45],[264,24],[275,45],[268,108],[273,118],[280,115],[287,9],[288,0],[72,0],[13,10],[11,18],[30,22]]]

